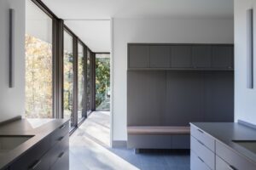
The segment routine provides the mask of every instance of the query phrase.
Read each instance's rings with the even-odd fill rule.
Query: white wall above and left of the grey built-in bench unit
[[[113,19],[113,140],[127,139],[128,42],[233,43],[233,28],[233,19]]]

